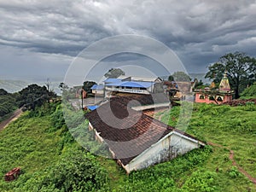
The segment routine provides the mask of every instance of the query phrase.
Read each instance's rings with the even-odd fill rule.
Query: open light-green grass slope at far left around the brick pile
[[[12,122],[0,132],[0,190],[12,189],[15,182],[5,183],[3,176],[19,166],[27,175],[43,172],[58,160],[58,148],[61,137],[56,132],[49,133],[49,116],[28,118],[24,113],[20,119]]]

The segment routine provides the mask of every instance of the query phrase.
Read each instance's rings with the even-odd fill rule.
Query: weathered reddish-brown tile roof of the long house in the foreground
[[[148,103],[145,102],[147,96],[144,100],[142,97],[139,98],[139,102]],[[131,109],[129,103],[134,99],[134,96],[113,97],[109,102],[85,115],[113,151],[114,158],[120,160],[124,166],[175,130],[157,119]],[[191,137],[183,131],[177,132]]]

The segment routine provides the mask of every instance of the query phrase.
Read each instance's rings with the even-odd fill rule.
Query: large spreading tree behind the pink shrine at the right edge
[[[241,91],[256,79],[256,59],[245,53],[229,53],[221,56],[208,70],[205,78],[213,79],[216,83],[220,82],[226,70],[230,87],[235,90],[235,98],[239,98]]]

